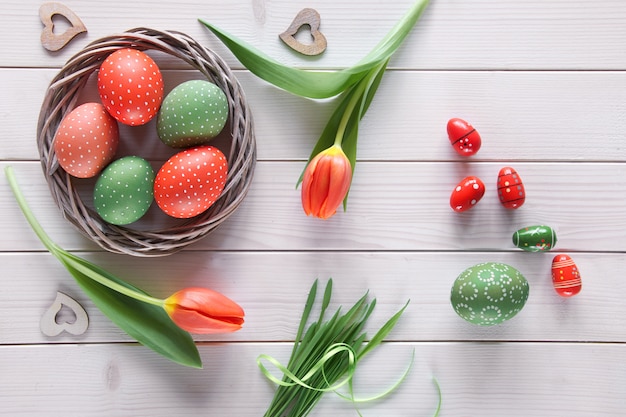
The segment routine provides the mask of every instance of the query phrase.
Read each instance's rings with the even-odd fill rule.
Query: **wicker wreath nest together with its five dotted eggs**
[[[171,57],[197,71],[165,76],[158,59]],[[145,28],[66,63],[37,143],[63,216],[106,250],[136,256],[206,236],[239,206],[256,162],[252,117],[228,66],[182,33]]]

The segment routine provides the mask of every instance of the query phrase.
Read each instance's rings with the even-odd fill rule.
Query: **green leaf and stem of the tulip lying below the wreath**
[[[191,335],[180,329],[158,303],[144,302],[113,289],[130,290],[137,297],[156,300],[139,288],[114,276],[98,265],[80,258],[54,243],[45,233],[26,203],[11,167],[7,180],[24,217],[44,246],[74,277],[93,303],[129,336],[155,352],[185,366],[200,368],[202,362]],[[109,285],[104,285],[107,282]]]

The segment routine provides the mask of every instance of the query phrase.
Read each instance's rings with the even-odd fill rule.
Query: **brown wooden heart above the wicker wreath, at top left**
[[[55,15],[63,16],[72,25],[59,35],[54,33],[52,17]],[[43,3],[41,7],[39,7],[39,18],[41,19],[41,23],[44,24],[43,31],[41,32],[41,44],[44,48],[52,52],[63,48],[69,41],[74,39],[76,35],[87,32],[87,28],[78,16],[76,16],[76,13],[61,3]]]

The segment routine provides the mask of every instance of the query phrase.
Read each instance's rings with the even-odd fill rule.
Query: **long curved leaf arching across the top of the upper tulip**
[[[417,0],[387,35],[355,66],[339,71],[304,70],[286,66],[246,41],[229,34],[206,20],[199,19],[230,49],[253,74],[292,94],[309,98],[328,98],[356,84],[373,68],[387,61],[402,44],[428,0]]]

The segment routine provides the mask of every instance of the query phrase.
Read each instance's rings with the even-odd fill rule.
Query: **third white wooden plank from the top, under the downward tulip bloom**
[[[507,163],[508,164],[508,163]],[[0,164],[4,169],[7,164]],[[67,249],[91,247],[61,222],[39,163],[11,164],[40,221]],[[515,212],[497,197],[496,180],[505,163],[357,164],[348,209],[326,222],[307,218],[295,184],[303,162],[259,162],[254,186],[239,210],[193,249],[211,250],[489,250],[516,249],[512,234],[526,226],[547,224],[556,229],[561,251],[619,252],[626,241],[626,213],[616,195],[626,192],[620,163],[516,163],[526,184],[528,203]],[[483,179],[487,192],[477,206],[455,213],[450,193],[465,176]],[[15,237],[0,248],[43,246],[32,233],[17,233],[19,209],[11,201],[6,180],[0,200],[10,216],[0,227]],[[90,204],[93,182],[84,182]],[[372,198],[375,196],[376,198]],[[598,207],[597,202],[602,204]],[[596,208],[597,207],[597,208]],[[163,218],[153,205],[147,219]],[[21,219],[20,219],[21,220]],[[144,221],[144,220],[142,220]],[[141,222],[133,227],[141,227]],[[147,222],[148,220],[145,220]],[[17,229],[17,230],[16,230]]]

